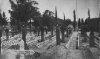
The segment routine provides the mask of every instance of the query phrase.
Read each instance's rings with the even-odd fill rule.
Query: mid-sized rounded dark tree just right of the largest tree
[[[53,21],[54,21],[54,13],[50,10],[45,10],[43,14],[43,23],[49,30],[51,30],[51,35],[53,35]]]

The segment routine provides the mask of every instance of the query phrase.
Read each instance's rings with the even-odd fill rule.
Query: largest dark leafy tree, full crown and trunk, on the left
[[[28,20],[36,18],[39,14],[38,8],[35,6],[38,3],[31,0],[9,0],[11,3],[11,9],[9,13],[11,14],[11,24],[16,25],[18,30],[22,29],[22,39],[24,41],[25,49],[27,49],[26,44],[26,26]]]

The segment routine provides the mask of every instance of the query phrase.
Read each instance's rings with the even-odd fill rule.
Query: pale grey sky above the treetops
[[[39,11],[43,12],[48,9],[55,12],[57,7],[58,17],[63,19],[63,13],[65,13],[66,19],[70,18],[73,20],[73,10],[76,9],[76,0],[36,0]],[[90,9],[91,18],[99,16],[100,13],[100,0],[77,0],[77,15],[78,18],[86,19],[88,17],[88,8]],[[8,10],[10,8],[9,0],[0,0],[0,9],[6,12],[6,16],[9,18],[10,15]]]

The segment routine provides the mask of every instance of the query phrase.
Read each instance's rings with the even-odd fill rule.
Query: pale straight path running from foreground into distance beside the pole
[[[95,59],[88,48],[76,49],[77,35],[78,32],[73,32],[69,42],[66,44],[68,48],[67,59]]]

